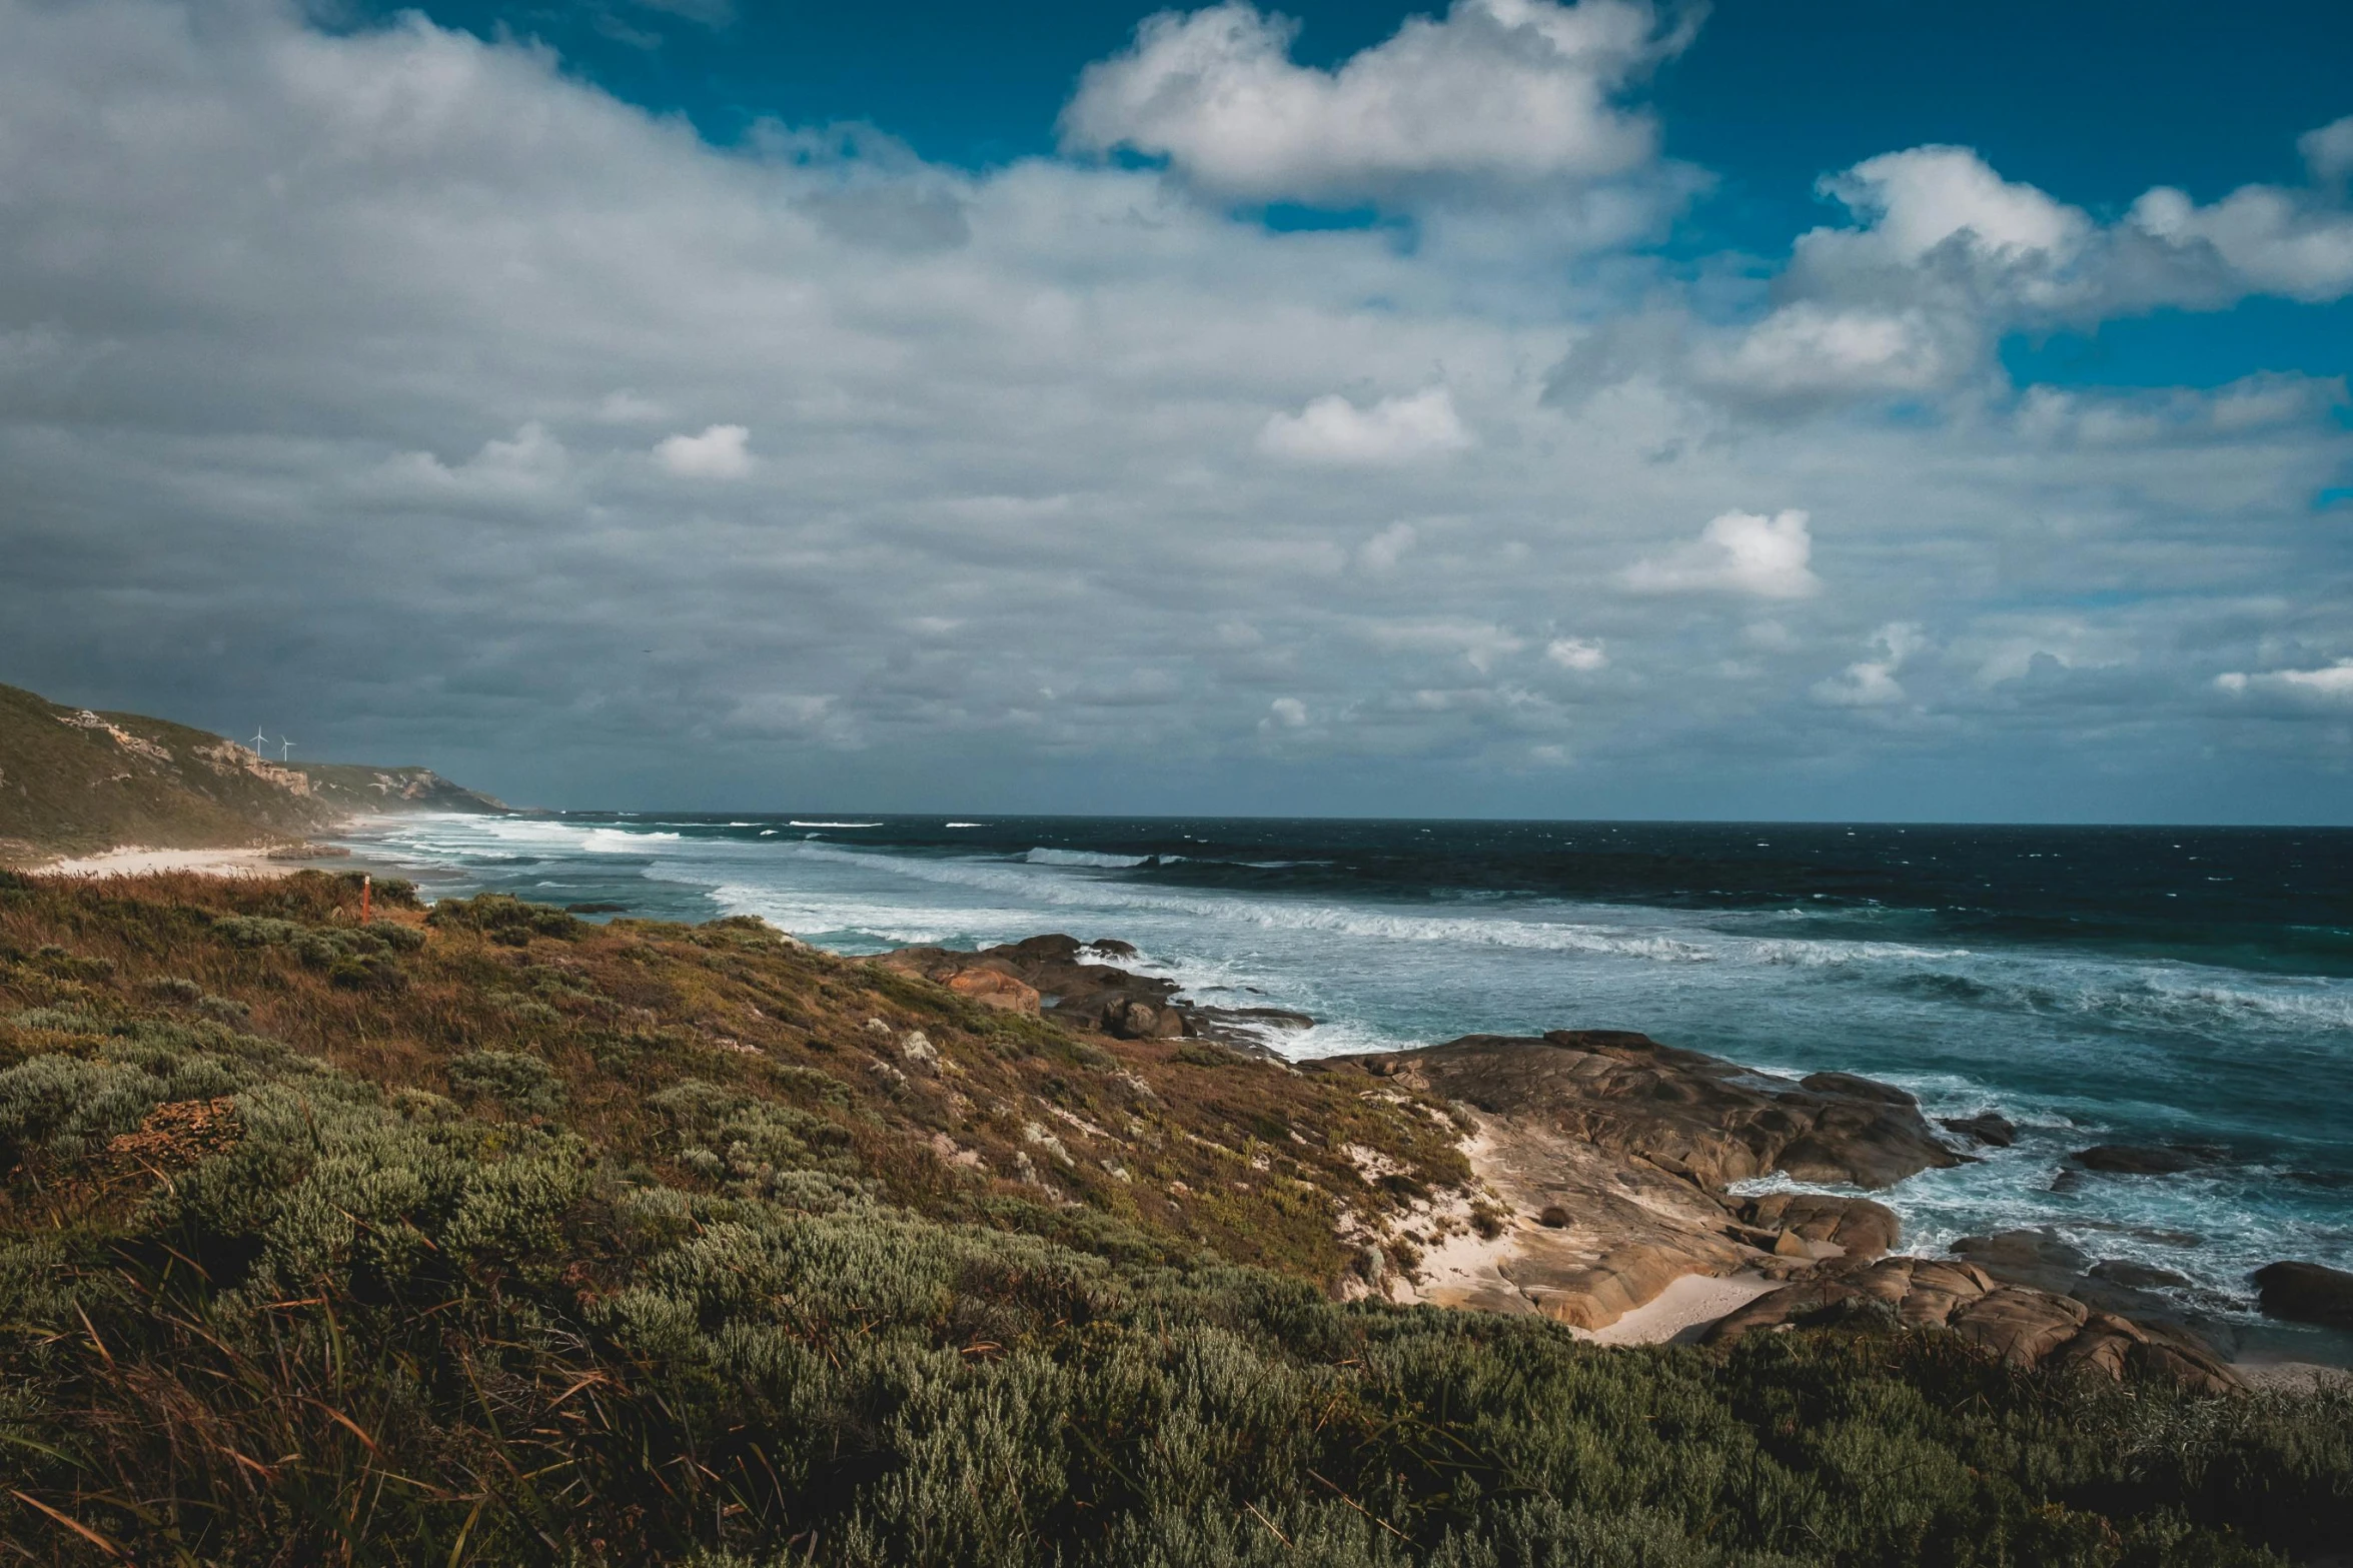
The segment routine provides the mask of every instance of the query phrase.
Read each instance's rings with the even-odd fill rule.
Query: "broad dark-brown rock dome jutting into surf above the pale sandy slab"
[[[1468,1034],[1445,1046],[1351,1060],[1489,1114],[1631,1154],[1711,1192],[1786,1171],[1802,1182],[1892,1187],[1958,1166],[1918,1100],[1849,1072],[1800,1081],[1619,1030],[1541,1039]]]

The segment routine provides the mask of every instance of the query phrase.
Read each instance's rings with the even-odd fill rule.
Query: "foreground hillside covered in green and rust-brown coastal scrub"
[[[1337,1305],[1447,1107],[748,919],[0,879],[38,1561],[2275,1563],[2353,1403]],[[1351,1086],[1353,1084],[1353,1086]],[[1367,1180],[1367,1171],[1384,1175]]]

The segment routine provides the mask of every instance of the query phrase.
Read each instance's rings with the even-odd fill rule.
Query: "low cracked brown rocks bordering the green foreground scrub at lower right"
[[[2099,1312],[2071,1295],[2000,1284],[1972,1262],[1922,1258],[1817,1272],[1720,1319],[1706,1340],[1732,1345],[1760,1331],[1833,1324],[1946,1328],[2017,1368],[2165,1378],[2202,1394],[2240,1387],[2238,1375],[2188,1335]]]

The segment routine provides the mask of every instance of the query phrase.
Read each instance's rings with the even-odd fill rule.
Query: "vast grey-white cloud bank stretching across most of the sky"
[[[1708,327],[1680,263],[1553,266],[1612,190],[1558,139],[1280,143],[1301,190],[1515,193],[1398,244],[1235,219],[1174,150],[713,148],[541,49],[226,14],[0,0],[0,679],[569,804],[1873,811],[1932,752],[1866,731],[2087,790],[2341,731],[2287,675],[2353,646],[2344,386],[2007,397],[1986,355],[2212,242],[1873,160],[1887,233]],[[1638,12],[1400,38],[1560,73],[1562,16]],[[1595,85],[1666,47],[1605,42]],[[1369,103],[1348,71],[1299,101]],[[1817,693],[1875,665],[1904,724]]]

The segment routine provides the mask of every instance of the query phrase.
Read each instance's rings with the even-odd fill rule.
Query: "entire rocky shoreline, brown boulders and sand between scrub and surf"
[[[1974,1237],[1955,1258],[1899,1253],[1885,1204],[1821,1192],[1741,1194],[1755,1178],[1887,1190],[2000,1147],[2000,1117],[1932,1124],[1913,1095],[1847,1072],[1762,1074],[1642,1034],[1468,1034],[1393,1053],[1289,1063],[1268,1039],[1313,1018],[1217,1009],[1134,973],[1134,947],[1038,936],[981,952],[906,947],[880,964],[993,1009],[1115,1039],[1184,1039],[1294,1072],[1362,1079],[1372,1098],[1449,1107],[1473,1187],[1417,1199],[1379,1227],[1344,1213],[1358,1269],[1344,1295],[1541,1314],[1591,1338],[1729,1342],[1791,1326],[1941,1328],[2019,1368],[2160,1375],[2242,1387],[2200,1333],[2129,1267],[2057,1237]],[[2167,1152],[2087,1150],[2087,1171]],[[1367,1182],[1384,1178],[1365,1168]],[[2304,1321],[2334,1321],[2353,1276],[2280,1265],[2266,1286]],[[2271,1269],[2266,1269],[2271,1274]]]

